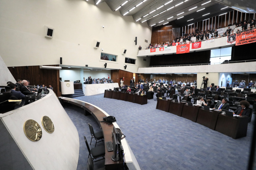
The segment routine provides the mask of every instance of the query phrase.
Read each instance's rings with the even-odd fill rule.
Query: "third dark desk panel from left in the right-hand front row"
[[[197,114],[198,114],[198,106],[188,106],[183,105],[181,117],[191,120],[192,122],[196,121]]]

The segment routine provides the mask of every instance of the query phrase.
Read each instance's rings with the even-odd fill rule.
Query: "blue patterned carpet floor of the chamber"
[[[243,170],[247,169],[252,140],[252,122],[248,124],[247,137],[232,139],[201,124],[156,108],[157,101],[139,105],[104,98],[104,94],[82,96],[75,99],[94,104],[109,115],[126,136],[141,169],[143,170]],[[84,116],[76,106],[64,109],[77,127],[80,152],[77,169],[87,169],[88,150],[83,136],[90,143],[88,123],[100,131],[93,116]],[[97,146],[104,142],[97,143]],[[95,146],[93,139],[91,148]],[[94,163],[104,167],[104,160]]]

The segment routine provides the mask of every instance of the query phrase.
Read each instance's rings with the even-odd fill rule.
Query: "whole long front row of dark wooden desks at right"
[[[177,116],[184,117],[193,122],[202,124],[212,130],[216,130],[225,135],[238,139],[247,135],[247,116],[237,118],[223,115],[220,111],[207,111],[199,106],[188,106],[185,102],[174,103],[171,100],[157,100],[156,109],[163,110]]]

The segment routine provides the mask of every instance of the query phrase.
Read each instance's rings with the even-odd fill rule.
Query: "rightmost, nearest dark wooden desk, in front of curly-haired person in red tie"
[[[249,117],[234,118],[223,114],[218,115],[215,130],[225,135],[238,139],[247,135]]]

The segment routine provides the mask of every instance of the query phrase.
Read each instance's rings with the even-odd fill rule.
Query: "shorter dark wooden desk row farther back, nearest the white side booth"
[[[129,102],[137,103],[141,105],[147,104],[147,95],[138,95],[138,94],[123,93],[121,91],[115,92],[113,90],[112,91],[105,90],[104,97],[123,100],[123,101],[129,101]]]

